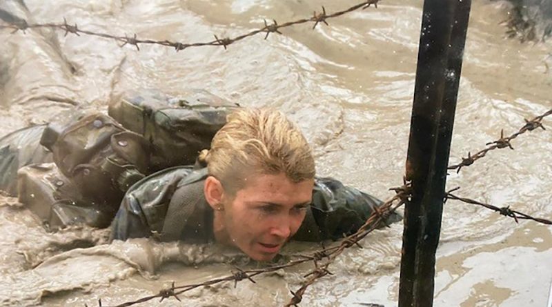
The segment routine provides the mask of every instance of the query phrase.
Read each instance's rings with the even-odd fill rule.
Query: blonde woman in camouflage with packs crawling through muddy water
[[[112,239],[217,241],[259,261],[289,239],[355,232],[381,204],[315,177],[311,148],[281,112],[194,92],[127,95],[109,114],[1,139],[0,188],[18,192],[52,230],[80,223],[110,225]],[[52,158],[55,165],[37,164]]]

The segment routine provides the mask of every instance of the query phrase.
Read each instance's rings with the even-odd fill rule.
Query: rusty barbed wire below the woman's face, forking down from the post
[[[311,270],[310,273],[306,274],[304,277],[310,277],[308,281],[303,284],[299,290],[292,292],[293,297],[290,301],[291,304],[288,304],[286,306],[296,306],[299,304],[299,302],[302,299],[302,295],[304,294],[306,288],[313,284],[317,279],[320,277],[323,277],[325,275],[331,275],[331,273],[328,270],[328,266],[333,262],[333,260],[341,254],[346,248],[350,248],[351,246],[359,246],[362,248],[362,246],[359,245],[358,241],[366,237],[370,232],[378,228],[381,224],[385,222],[385,220],[393,213],[397,208],[400,208],[404,204],[404,199],[408,199],[409,195],[406,195],[407,193],[411,193],[411,187],[410,184],[404,184],[404,186],[399,188],[391,188],[390,190],[395,191],[395,196],[391,197],[387,201],[382,204],[378,210],[375,210],[373,214],[368,217],[366,222],[357,230],[357,232],[353,233],[353,235],[349,235],[347,237],[344,237],[341,243],[336,246],[331,246],[328,248],[322,248],[321,250],[317,250],[313,252],[311,255],[292,255],[292,257],[295,257],[297,259],[288,261],[286,264],[279,264],[275,266],[268,266],[266,268],[259,268],[259,269],[251,269],[251,270],[242,270],[241,268],[236,268],[236,272],[233,272],[231,275],[228,275],[226,277],[219,277],[215,279],[210,279],[208,281],[204,281],[198,284],[188,284],[184,286],[175,286],[174,283],[172,283],[172,286],[170,288],[163,288],[159,290],[159,293],[156,295],[148,295],[146,297],[141,297],[139,299],[136,299],[134,301],[127,301],[115,306],[109,306],[109,307],[128,307],[133,306],[135,304],[144,303],[146,301],[150,301],[152,299],[159,298],[160,301],[163,301],[164,299],[168,299],[170,297],[175,297],[175,299],[179,299],[177,295],[180,295],[181,293],[185,293],[187,291],[193,290],[195,288],[200,288],[204,286],[212,286],[214,284],[220,284],[222,282],[226,281],[234,281],[234,286],[237,286],[238,281],[242,281],[245,279],[248,279],[252,283],[255,283],[255,280],[253,277],[257,275],[262,275],[265,273],[273,273],[277,270],[281,270],[283,268],[289,268],[291,266],[297,266],[298,264],[304,264],[309,261],[313,262],[314,268]],[[397,202],[398,201],[398,202]],[[320,261],[324,261],[323,264],[320,263]],[[101,305],[101,300],[98,301],[99,305]],[[86,307],[88,305],[85,304]],[[102,307],[108,307],[108,306],[102,306]]]

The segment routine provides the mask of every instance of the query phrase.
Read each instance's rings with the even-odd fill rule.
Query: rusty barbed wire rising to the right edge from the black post
[[[462,162],[460,162],[459,164],[453,164],[449,166],[448,169],[456,170],[456,172],[460,172],[460,169],[462,169],[464,166],[471,166],[473,162],[477,161],[478,159],[481,159],[482,157],[485,157],[486,153],[491,150],[501,149],[501,148],[510,148],[513,150],[513,147],[510,141],[515,139],[517,136],[522,135],[527,131],[533,131],[537,128],[542,128],[542,130],[546,130],[546,128],[542,126],[542,119],[544,119],[544,117],[547,117],[549,115],[552,115],[552,109],[544,112],[544,114],[539,115],[538,117],[535,117],[531,120],[524,119],[525,125],[522,128],[520,128],[520,130],[513,133],[509,137],[504,137],[504,129],[502,129],[500,131],[500,139],[486,143],[486,146],[488,147],[478,152],[475,152],[474,155],[471,155],[471,152],[468,152],[467,158],[462,157]]]

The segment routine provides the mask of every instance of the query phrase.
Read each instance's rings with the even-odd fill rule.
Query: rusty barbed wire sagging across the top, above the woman
[[[86,34],[90,36],[95,37],[102,37],[104,39],[114,39],[117,42],[121,42],[121,47],[125,45],[132,45],[135,46],[137,50],[140,50],[139,44],[155,44],[155,45],[161,45],[161,46],[167,46],[175,48],[175,50],[178,52],[180,50],[184,50],[186,48],[190,47],[201,47],[201,46],[222,46],[226,50],[226,47],[231,45],[232,43],[235,43],[237,41],[241,41],[242,39],[245,39],[246,37],[253,37],[256,34],[259,33],[266,33],[264,39],[268,38],[268,34],[270,33],[278,33],[282,34],[279,30],[282,28],[294,26],[300,23],[308,23],[313,22],[314,26],[313,29],[316,28],[316,26],[319,23],[324,23],[326,26],[328,26],[327,19],[339,17],[343,14],[346,14],[348,12],[353,12],[355,10],[359,9],[366,9],[370,6],[374,5],[375,8],[377,8],[377,3],[380,0],[368,0],[363,1],[362,3],[358,3],[355,6],[351,6],[350,8],[347,8],[345,10],[340,10],[337,12],[334,12],[333,14],[326,14],[326,8],[322,6],[321,12],[313,12],[313,17],[310,18],[304,18],[304,19],[298,19],[296,21],[288,21],[286,23],[278,24],[275,19],[273,19],[273,23],[268,24],[266,20],[264,20],[264,27],[259,28],[257,30],[250,31],[245,34],[238,35],[237,37],[217,37],[216,34],[213,34],[215,37],[215,40],[213,41],[206,41],[206,42],[197,42],[197,43],[183,43],[179,41],[168,41],[168,40],[154,40],[154,39],[139,39],[137,37],[137,34],[134,33],[131,37],[129,37],[127,34],[125,34],[124,37],[108,34],[108,33],[102,33],[102,32],[93,32],[90,30],[83,30],[77,26],[77,23],[70,24],[67,22],[65,18],[63,18],[63,23],[27,23],[25,19],[18,19],[17,21],[14,21],[13,23],[8,24],[7,26],[0,25],[0,29],[8,29],[12,30],[12,34],[18,31],[21,31],[25,33],[28,29],[35,29],[35,28],[51,28],[54,30],[61,30],[65,31],[64,36],[67,36],[67,34],[75,34],[77,36],[80,36],[80,34]]]

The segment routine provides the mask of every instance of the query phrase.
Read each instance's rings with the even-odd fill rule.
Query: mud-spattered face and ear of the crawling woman
[[[301,226],[314,181],[295,183],[281,173],[252,175],[245,182],[232,198],[223,197],[224,210],[215,212],[215,224],[219,213],[228,243],[255,260],[269,261]]]

